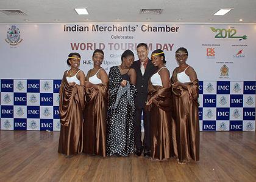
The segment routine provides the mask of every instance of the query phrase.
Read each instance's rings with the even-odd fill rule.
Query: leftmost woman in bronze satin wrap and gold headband
[[[82,112],[84,110],[85,75],[79,70],[81,56],[70,53],[60,86],[60,139],[59,153],[66,156],[82,152]]]

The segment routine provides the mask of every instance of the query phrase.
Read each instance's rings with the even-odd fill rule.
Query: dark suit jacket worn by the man
[[[154,67],[154,65],[151,62],[151,59],[149,59],[144,75],[142,75],[140,70],[140,60],[134,61],[132,64],[132,68],[135,69],[137,74],[137,78],[136,78],[137,96],[136,96],[135,104],[138,109],[143,109],[145,107],[145,102],[147,101],[147,98],[148,98],[149,78],[157,70],[157,67]]]

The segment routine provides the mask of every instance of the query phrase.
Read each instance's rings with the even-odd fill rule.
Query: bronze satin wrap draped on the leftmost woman
[[[59,153],[76,155],[82,152],[82,113],[84,110],[84,87],[69,86],[66,72],[60,86],[60,139]]]

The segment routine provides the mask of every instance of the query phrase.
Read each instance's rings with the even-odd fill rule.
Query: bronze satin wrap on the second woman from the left
[[[98,84],[98,90],[85,88],[85,153],[106,156],[107,103],[108,83]]]

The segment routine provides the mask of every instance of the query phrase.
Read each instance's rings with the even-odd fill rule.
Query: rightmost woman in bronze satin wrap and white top
[[[180,164],[188,163],[191,159],[199,160],[198,79],[194,69],[186,63],[187,58],[187,49],[177,49],[179,67],[174,69],[171,78]]]

